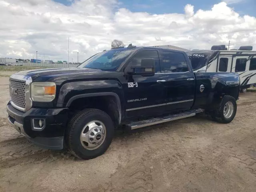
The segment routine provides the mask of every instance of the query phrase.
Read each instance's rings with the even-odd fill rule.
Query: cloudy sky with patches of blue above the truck
[[[252,45],[256,0],[0,0],[0,57],[85,60],[125,45]]]

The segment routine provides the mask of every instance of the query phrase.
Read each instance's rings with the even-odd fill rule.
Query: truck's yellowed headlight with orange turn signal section
[[[56,95],[56,84],[53,82],[33,82],[31,84],[31,99],[38,102],[50,102]]]

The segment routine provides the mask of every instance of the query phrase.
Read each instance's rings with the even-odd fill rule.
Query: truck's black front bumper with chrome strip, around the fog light
[[[63,149],[68,108],[31,108],[27,112],[21,112],[14,108],[10,102],[6,108],[10,124],[32,143],[47,149]],[[44,119],[46,123],[44,129],[33,130],[33,118]]]

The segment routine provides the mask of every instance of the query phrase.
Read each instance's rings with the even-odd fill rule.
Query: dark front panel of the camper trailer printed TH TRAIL
[[[188,58],[192,65],[193,71],[196,71],[207,65],[207,60],[212,53],[202,53],[202,52],[187,52]]]

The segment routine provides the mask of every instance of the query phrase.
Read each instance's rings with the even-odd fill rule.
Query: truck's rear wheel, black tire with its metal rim
[[[220,123],[230,123],[236,116],[236,100],[232,96],[224,96],[220,107],[214,112],[214,120]]]

